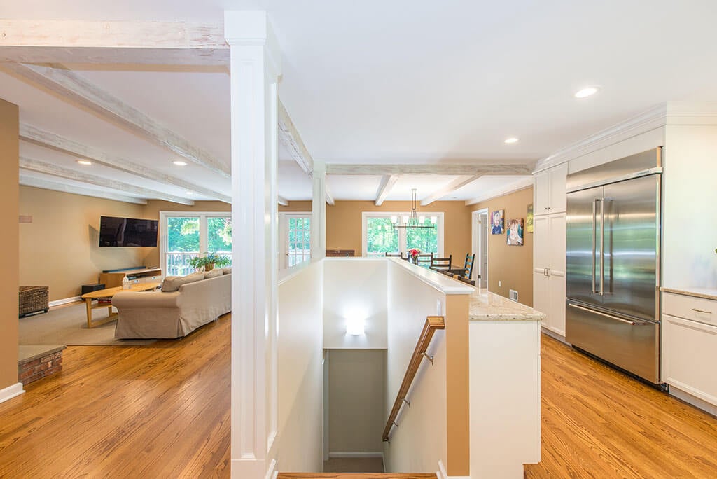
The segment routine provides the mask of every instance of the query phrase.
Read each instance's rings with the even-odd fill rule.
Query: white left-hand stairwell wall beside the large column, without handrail
[[[278,436],[267,463],[277,470],[323,468],[323,263],[279,283]]]

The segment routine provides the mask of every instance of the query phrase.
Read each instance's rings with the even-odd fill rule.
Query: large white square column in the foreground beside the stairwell
[[[232,478],[264,479],[277,433],[277,77],[265,11],[225,11],[232,93]]]

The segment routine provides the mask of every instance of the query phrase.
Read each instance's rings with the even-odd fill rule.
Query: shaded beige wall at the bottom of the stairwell
[[[386,350],[331,349],[328,371],[329,452],[380,452]]]

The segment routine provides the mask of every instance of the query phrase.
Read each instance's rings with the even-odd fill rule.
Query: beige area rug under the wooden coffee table
[[[104,308],[92,311],[95,321],[107,318]],[[19,319],[19,344],[66,344],[67,346],[144,346],[154,339],[115,339],[117,321],[87,328],[85,303],[50,308]]]

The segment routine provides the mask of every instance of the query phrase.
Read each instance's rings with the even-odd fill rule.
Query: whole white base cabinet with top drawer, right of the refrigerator
[[[662,323],[661,379],[670,394],[717,406],[717,300],[663,293]]]

